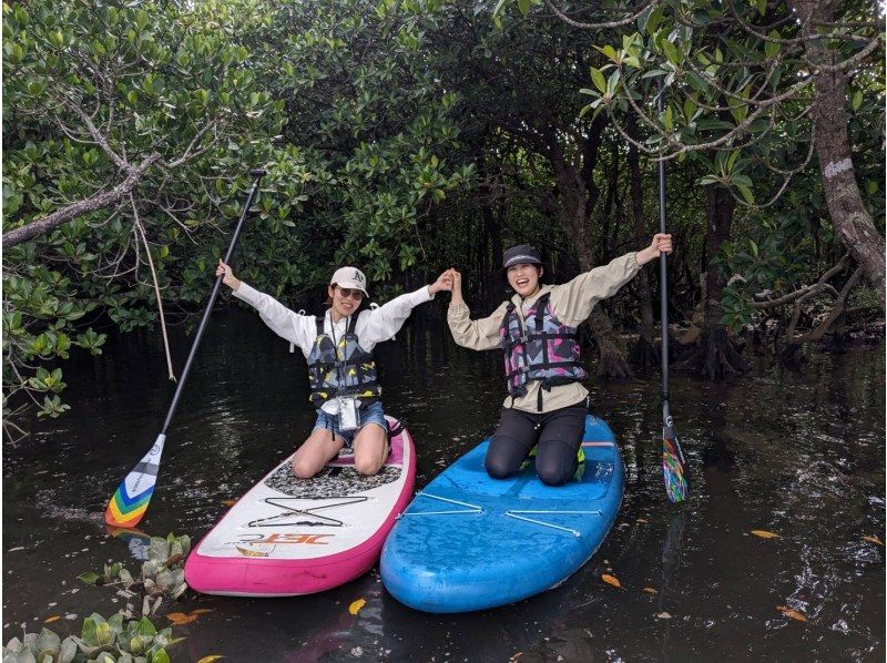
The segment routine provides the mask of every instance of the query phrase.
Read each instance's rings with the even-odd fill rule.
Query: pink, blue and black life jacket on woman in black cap
[[[523,323],[509,302],[499,337],[504,350],[508,392],[514,398],[527,394],[530,380],[540,380],[542,389],[569,385],[585,377],[579,363],[577,328],[561,323],[551,309],[546,293],[527,310]],[[526,325],[526,327],[524,327]],[[542,389],[539,390],[538,408],[542,410]]]

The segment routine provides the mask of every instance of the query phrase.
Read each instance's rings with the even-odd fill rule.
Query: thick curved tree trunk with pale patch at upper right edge
[[[834,3],[827,0],[793,0],[789,2],[802,21],[804,37],[815,35],[817,24],[835,22]],[[807,39],[807,58],[816,65],[834,65],[835,52],[822,39]],[[866,210],[856,183],[856,169],[847,137],[847,78],[840,70],[818,69],[814,73],[814,130],[816,155],[823,174],[823,193],[828,213],[840,241],[863,267],[866,278],[878,292],[884,310],[885,259],[884,237]]]

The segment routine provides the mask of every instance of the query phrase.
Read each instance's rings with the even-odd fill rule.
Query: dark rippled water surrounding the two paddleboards
[[[502,400],[498,358],[441,338],[404,332],[377,350],[386,409],[417,441],[417,488],[491,432]],[[175,340],[181,366],[186,343]],[[661,486],[657,377],[590,384],[620,440],[625,500],[601,550],[560,588],[446,616],[399,604],[376,571],[310,596],[202,596],[175,608],[212,612],[176,628],[185,640],[173,660],[883,661],[884,548],[863,537],[885,539],[884,364],[879,348],[814,356],[803,375],[674,379],[672,411],[694,472],[683,509]],[[141,564],[105,532],[102,513],[160,431],[173,391],[164,366],[157,341],[139,334],[111,339],[98,359],[73,357],[71,412],[4,448],[4,641],[53,615],[55,631],[79,631],[91,612],[122,605],[75,577],[111,560]],[[257,316],[214,316],[143,530],[196,539],[223,500],[292,451],[314,420],[300,366]],[[366,605],[353,616],[357,599]]]

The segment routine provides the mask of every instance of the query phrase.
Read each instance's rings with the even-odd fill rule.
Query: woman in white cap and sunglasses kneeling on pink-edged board
[[[310,436],[293,456],[293,471],[300,479],[319,472],[343,447],[354,449],[354,467],[375,475],[388,458],[388,425],[379,396],[373,348],[388,340],[414,307],[430,302],[436,293],[452,288],[445,273],[429,286],[401,295],[375,309],[360,309],[367,280],[356,267],[336,269],[327,288],[327,308],[320,317],[300,315],[259,293],[218,263],[234,296],[256,310],[272,330],[295,344],[308,360],[309,400],[317,408]]]

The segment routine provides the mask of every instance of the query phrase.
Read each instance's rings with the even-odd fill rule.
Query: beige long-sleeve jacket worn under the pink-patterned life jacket
[[[570,325],[578,326],[591,315],[591,309],[601,299],[612,297],[619,288],[629,283],[640,271],[635,253],[628,253],[610,262],[610,264],[595,267],[590,272],[580,274],[572,280],[562,285],[544,285],[532,297],[521,299],[514,295],[511,300],[514,303],[514,310],[520,316],[521,323],[524,319],[524,312],[531,308],[539,297],[546,293],[551,293],[549,303],[557,318]],[[468,305],[450,304],[447,312],[447,323],[456,343],[472,350],[492,350],[501,347],[499,337],[499,325],[506,315],[508,302],[502,304],[486,318],[472,320]],[[527,385],[527,394],[518,398],[509,396],[506,398],[503,407],[513,407],[527,412],[537,412],[539,404],[539,390],[542,388],[539,381],[531,381]],[[559,385],[552,387],[551,391],[543,392],[542,412],[550,412],[583,401],[589,391],[579,382],[570,385]]]

